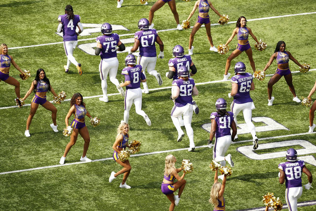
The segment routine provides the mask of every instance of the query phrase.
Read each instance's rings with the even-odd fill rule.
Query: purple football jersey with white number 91
[[[217,112],[211,113],[210,119],[214,119],[217,127],[215,131],[216,138],[231,135],[231,125],[234,121],[233,112],[228,111],[224,116],[220,116]]]

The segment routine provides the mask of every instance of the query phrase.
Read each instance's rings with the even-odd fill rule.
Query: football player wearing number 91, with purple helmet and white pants
[[[212,140],[216,136],[213,159],[219,162],[222,167],[226,166],[226,161],[234,167],[231,154],[225,156],[229,146],[237,133],[233,112],[226,111],[227,102],[224,98],[218,98],[215,103],[216,112],[211,113],[211,131],[209,134],[208,146],[212,147]],[[231,133],[231,128],[233,132]],[[224,176],[224,175],[222,175]],[[223,179],[223,177],[221,177]]]

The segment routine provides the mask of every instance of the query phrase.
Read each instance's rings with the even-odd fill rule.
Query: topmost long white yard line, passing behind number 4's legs
[[[291,17],[291,16],[297,16],[297,15],[310,15],[310,14],[316,14],[316,12],[304,12],[304,13],[298,13],[298,14],[271,16],[271,17],[264,17],[264,18],[254,18],[254,19],[249,19],[247,21],[268,20],[268,19],[274,19],[274,18],[283,18],[283,17]],[[236,21],[230,21],[227,24],[232,24],[232,23],[236,23]],[[211,26],[217,26],[217,25],[220,25],[220,24],[218,24],[218,23],[211,24]],[[204,25],[202,27],[204,27]],[[193,26],[191,26],[191,28],[193,28]],[[166,32],[166,31],[173,31],[173,30],[177,30],[177,28],[157,30],[157,32]],[[134,35],[134,33],[119,35],[119,37],[132,36],[132,35]],[[95,40],[95,39],[96,38],[80,39],[80,40],[78,40],[78,42],[79,41],[90,41],[90,40]],[[52,43],[45,43],[45,44],[26,45],[26,46],[20,46],[20,47],[9,47],[8,49],[19,49],[19,48],[26,48],[26,47],[38,47],[38,46],[45,46],[45,45],[52,45],[52,44],[61,44],[61,43],[64,43],[64,42],[52,42]]]

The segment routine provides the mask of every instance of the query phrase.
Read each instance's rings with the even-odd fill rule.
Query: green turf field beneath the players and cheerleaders
[[[129,190],[118,187],[122,175],[112,183],[108,182],[111,171],[118,171],[121,167],[112,159],[106,160],[112,157],[112,145],[117,127],[123,119],[123,98],[117,94],[116,87],[108,80],[108,94],[113,95],[109,96],[109,103],[99,101],[98,97],[102,94],[98,70],[99,56],[90,55],[77,48],[74,56],[82,64],[83,74],[79,76],[74,65],[71,65],[69,74],[64,73],[63,66],[67,58],[63,44],[58,43],[62,42],[62,38],[55,32],[58,25],[57,17],[64,14],[66,4],[73,6],[74,13],[80,15],[83,24],[109,22],[112,25],[122,25],[128,31],[114,32],[118,33],[120,39],[123,40],[133,39],[133,34],[138,31],[138,20],[143,17],[148,18],[149,10],[154,2],[155,0],[149,0],[148,5],[141,5],[139,0],[124,0],[119,9],[116,8],[115,0],[71,0],[67,3],[62,0],[7,0],[0,3],[2,13],[0,43],[4,42],[8,45],[8,53],[13,56],[21,69],[28,69],[32,73],[30,79],[22,81],[19,78],[19,72],[11,66],[10,76],[20,82],[21,96],[23,97],[30,88],[36,70],[43,68],[57,93],[64,90],[68,99],[75,92],[80,92],[83,97],[94,96],[84,99],[84,102],[89,113],[101,119],[98,127],[87,124],[91,138],[87,157],[95,162],[60,166],[59,159],[69,142],[69,138],[63,136],[61,132],[65,127],[64,120],[69,110],[69,101],[55,105],[58,110],[57,125],[60,132],[52,131],[49,127],[51,113],[40,106],[30,127],[32,136],[27,138],[24,136],[24,131],[30,106],[14,107],[14,86],[0,82],[0,210],[167,210],[170,202],[161,193],[160,184],[163,178],[164,158],[170,153],[177,158],[177,167],[181,165],[182,159],[190,159],[194,165],[194,171],[185,176],[187,184],[180,204],[175,210],[212,210],[212,206],[208,203],[214,177],[214,173],[208,168],[212,160],[212,151],[205,146],[209,133],[204,128],[209,125],[204,124],[210,123],[209,116],[215,111],[217,98],[224,97],[229,105],[232,98],[229,99],[227,96],[231,90],[229,81],[207,82],[223,79],[226,59],[237,44],[236,37],[230,43],[230,52],[220,55],[209,51],[204,27],[195,36],[192,59],[197,67],[194,79],[199,95],[194,97],[194,100],[197,101],[200,113],[194,115],[192,120],[197,148],[195,152],[188,152],[187,136],[182,142],[176,141],[177,131],[170,118],[173,102],[169,100],[171,90],[168,87],[171,86],[171,80],[164,75],[168,71],[168,61],[172,57],[174,45],[181,44],[188,53],[191,29],[158,32],[164,43],[165,58],[157,60],[156,70],[163,79],[161,87],[165,88],[156,89],[159,87],[156,78],[147,74],[149,88],[154,90],[150,90],[149,94],[143,94],[143,110],[152,121],[151,127],[148,127],[143,118],[135,113],[134,106],[130,111],[129,134],[131,138],[142,141],[142,148],[140,156],[130,158],[132,170],[127,184],[132,188]],[[176,0],[180,21],[189,16],[194,3],[195,1]],[[267,42],[266,50],[259,52],[254,49],[255,42],[249,37],[256,69],[262,70],[265,67],[274,52],[276,42],[283,40],[286,42],[286,50],[290,51],[301,64],[310,63],[311,69],[315,70],[316,14],[303,13],[316,12],[316,1],[213,0],[212,3],[221,14],[230,15],[230,21],[237,21],[240,15],[245,16],[248,20],[247,26],[251,28],[257,39]],[[209,14],[211,23],[217,23],[218,16],[211,11]],[[293,14],[299,15],[285,16]],[[271,18],[275,16],[282,17]],[[191,18],[191,25],[194,24],[196,18],[197,12]],[[158,31],[176,28],[172,12],[167,5],[155,13],[153,23]],[[84,27],[84,30],[87,29],[89,27]],[[235,23],[212,26],[214,45],[225,43],[234,29]],[[100,32],[79,36],[79,47],[87,49],[84,46],[95,43],[95,38],[99,35],[101,35]],[[40,45],[47,43],[51,44]],[[125,43],[126,47],[132,45],[133,43]],[[21,48],[22,46],[28,47]],[[123,80],[120,71],[124,68],[126,55],[127,52],[118,53],[117,78],[119,82]],[[245,53],[234,59],[232,66],[237,61],[244,62],[248,72],[251,72]],[[299,70],[294,62],[290,61],[289,65],[292,72]],[[276,62],[274,61],[267,70],[267,74],[273,74],[275,69]],[[230,73],[233,71],[231,67]],[[300,98],[306,97],[315,83],[316,71],[292,75],[297,95]],[[268,192],[274,192],[275,196],[286,205],[285,185],[280,185],[277,177],[277,165],[284,162],[284,157],[273,157],[270,153],[284,152],[289,147],[301,149],[299,156],[305,156],[303,160],[306,161],[306,167],[310,169],[314,177],[316,174],[316,136],[315,133],[307,133],[309,108],[292,101],[293,96],[283,78],[274,85],[273,96],[276,99],[274,105],[268,107],[269,79],[270,76],[262,82],[255,80],[255,90],[251,92],[256,106],[252,117],[254,121],[258,121],[254,124],[257,128],[263,128],[263,131],[257,132],[259,148],[254,151],[255,157],[251,157],[252,150],[246,153],[244,151],[247,146],[252,145],[250,133],[238,134],[238,141],[233,142],[227,151],[232,154],[235,167],[226,183],[224,195],[226,211],[263,207],[262,196]],[[26,104],[31,102],[32,97],[33,93],[26,100]],[[315,95],[312,98],[315,100]],[[53,99],[51,93],[48,93],[47,99]],[[241,124],[244,123],[242,114],[237,118],[238,124],[242,127]],[[65,164],[79,162],[82,148],[83,139],[79,137],[77,144],[69,152]],[[182,150],[164,152],[177,149]],[[151,152],[159,153],[142,155],[142,153]],[[49,168],[33,169],[39,167]],[[33,170],[8,173],[23,169]],[[305,174],[302,180],[303,184],[308,182]],[[312,186],[316,186],[315,181]],[[304,189],[299,199],[299,202],[314,201],[314,205],[299,207],[299,211],[316,210],[315,188]]]

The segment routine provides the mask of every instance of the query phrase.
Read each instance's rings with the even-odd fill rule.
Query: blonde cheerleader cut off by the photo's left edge
[[[15,63],[15,61],[13,60],[13,57],[8,54],[8,46],[2,43],[0,45],[0,82],[4,81],[7,84],[15,86],[15,94],[17,96],[15,101],[19,104],[19,106],[22,106],[22,103],[19,100],[19,98],[21,98],[20,82],[18,82],[15,78],[9,76],[11,63],[15,67],[15,69],[17,69],[18,71],[20,71],[21,74],[23,74],[23,71]]]

